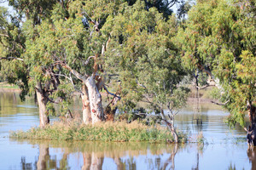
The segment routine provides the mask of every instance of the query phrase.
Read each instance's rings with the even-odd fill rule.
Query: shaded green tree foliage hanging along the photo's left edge
[[[20,95],[24,99],[24,94],[27,91],[27,72],[23,59],[20,55],[24,50],[24,37],[20,35],[20,28],[17,26],[18,22],[12,18],[12,23],[8,21],[9,13],[7,8],[0,8],[0,77],[9,82],[16,82],[22,80],[18,84],[22,90]],[[12,62],[10,62],[12,61]]]

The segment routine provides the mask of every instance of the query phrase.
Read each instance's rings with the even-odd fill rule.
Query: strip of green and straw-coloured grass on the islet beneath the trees
[[[140,122],[102,122],[92,125],[54,122],[44,128],[32,127],[28,131],[10,133],[10,138],[85,140],[85,141],[148,141],[173,142],[172,133],[165,127],[148,127]],[[179,141],[186,142],[187,135],[179,133]]]

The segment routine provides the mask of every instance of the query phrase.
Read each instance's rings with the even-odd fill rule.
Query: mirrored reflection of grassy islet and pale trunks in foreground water
[[[29,141],[29,143],[38,145],[38,156],[33,164],[27,163],[26,157],[22,157],[22,169],[174,169],[174,158],[178,149],[182,147],[178,144],[142,142]]]

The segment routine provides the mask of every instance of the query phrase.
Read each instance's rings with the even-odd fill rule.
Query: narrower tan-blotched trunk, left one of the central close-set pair
[[[88,89],[85,85],[82,86],[82,103],[83,103],[83,122],[84,124],[90,124],[91,116],[90,116],[90,101],[88,96]]]

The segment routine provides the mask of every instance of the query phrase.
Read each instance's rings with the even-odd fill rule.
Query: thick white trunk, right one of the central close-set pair
[[[90,101],[90,114],[92,124],[96,122],[102,122],[104,118],[102,108],[102,95],[99,93],[96,87],[96,82],[93,77],[88,77],[85,81],[85,85],[88,89],[88,96]]]

